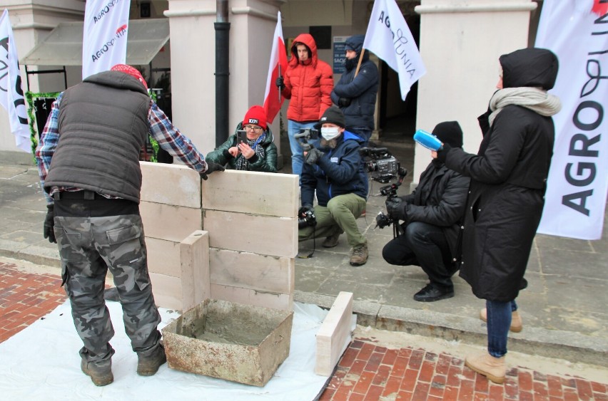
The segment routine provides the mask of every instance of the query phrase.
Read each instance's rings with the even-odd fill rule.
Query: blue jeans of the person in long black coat
[[[487,308],[487,352],[495,358],[507,353],[507,334],[512,312],[517,311],[514,301],[485,301]]]

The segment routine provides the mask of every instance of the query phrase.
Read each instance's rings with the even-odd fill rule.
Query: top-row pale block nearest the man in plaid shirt
[[[201,207],[201,176],[184,165],[139,162],[141,200],[185,207]]]

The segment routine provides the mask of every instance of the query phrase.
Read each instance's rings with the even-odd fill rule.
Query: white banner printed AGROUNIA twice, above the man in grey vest
[[[82,36],[82,79],[126,63],[129,0],[88,0]]]

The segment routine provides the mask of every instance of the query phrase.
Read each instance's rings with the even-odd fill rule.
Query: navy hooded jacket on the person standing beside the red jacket
[[[350,42],[349,42],[350,41]],[[335,85],[331,93],[331,100],[338,105],[340,98],[350,99],[350,105],[340,107],[346,118],[346,127],[368,127],[374,129],[374,111],[376,105],[376,95],[378,94],[378,67],[370,61],[369,52],[363,53],[363,62],[355,77],[359,55],[363,48],[363,35],[356,35],[348,38],[347,44],[355,48],[357,57],[351,61],[350,70],[347,68],[340,80]]]

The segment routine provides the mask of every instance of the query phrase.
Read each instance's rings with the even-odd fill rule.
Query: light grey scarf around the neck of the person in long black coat
[[[497,90],[490,100],[490,126],[507,105],[518,105],[530,109],[539,115],[555,115],[562,109],[562,102],[555,95],[549,95],[539,88],[505,88]]]

